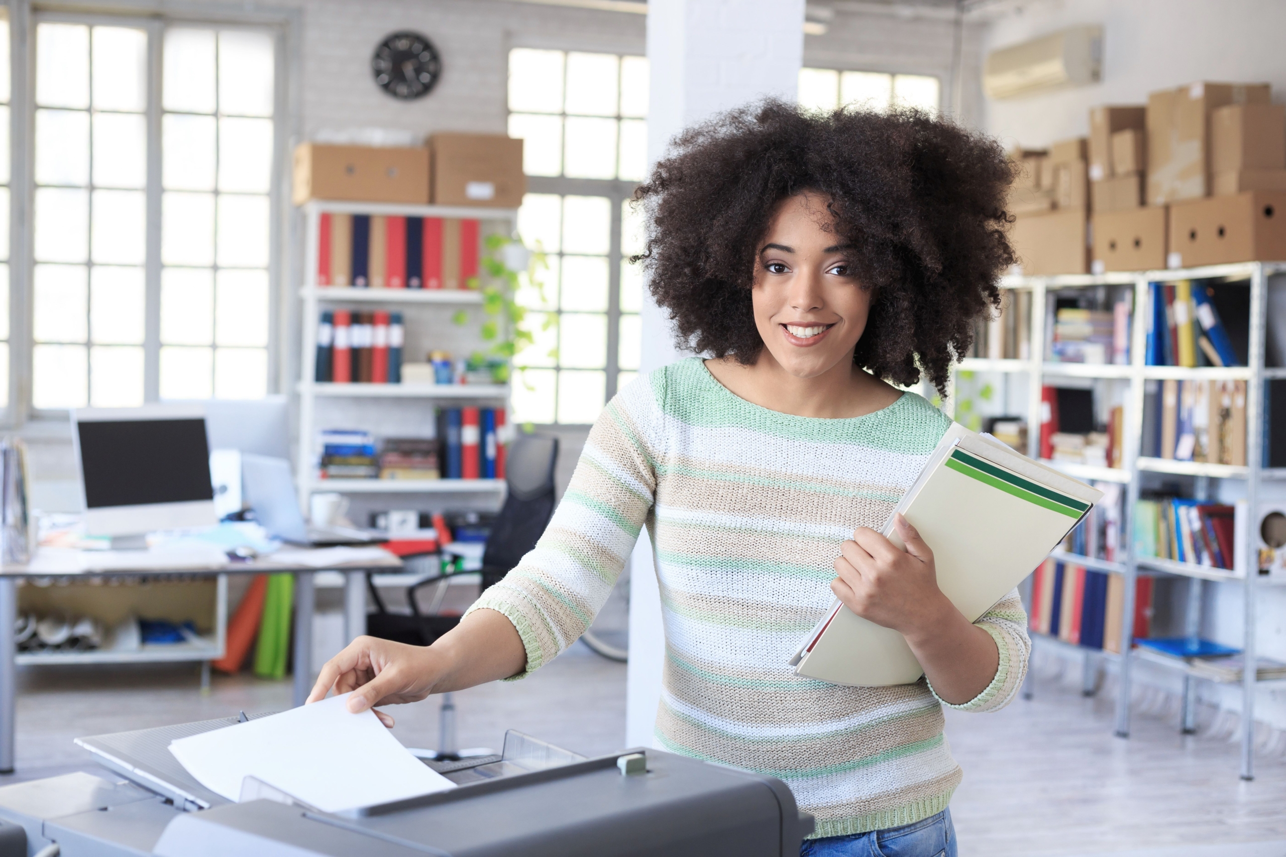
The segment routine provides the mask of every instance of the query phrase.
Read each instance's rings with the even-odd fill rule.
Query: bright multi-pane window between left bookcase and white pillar
[[[509,135],[522,137],[530,190],[518,231],[545,254],[517,296],[535,343],[514,358],[518,421],[593,423],[639,366],[637,218],[647,168],[643,57],[514,49]]]

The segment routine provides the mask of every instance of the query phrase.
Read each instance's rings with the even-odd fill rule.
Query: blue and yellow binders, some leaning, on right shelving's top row
[[[1219,311],[1218,293],[1202,283],[1152,283],[1148,289],[1148,366],[1242,366]]]

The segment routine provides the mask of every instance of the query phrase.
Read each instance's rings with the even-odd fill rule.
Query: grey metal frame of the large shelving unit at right
[[[1012,409],[1013,415],[1025,418],[1028,425],[1028,455],[1039,457],[1040,452],[1040,416],[1042,416],[1042,387],[1060,385],[1069,379],[1079,379],[1076,383],[1094,383],[1098,380],[1111,380],[1125,387],[1124,400],[1124,437],[1118,438],[1121,445],[1121,459],[1119,468],[1103,468],[1088,464],[1069,461],[1046,461],[1064,473],[1084,481],[1109,481],[1123,486],[1124,508],[1120,519],[1119,555],[1123,561],[1107,561],[1096,558],[1079,556],[1058,550],[1052,554],[1053,559],[1074,563],[1089,569],[1102,570],[1124,577],[1124,606],[1121,640],[1130,640],[1134,618],[1136,582],[1141,574],[1188,578],[1190,581],[1219,581],[1233,583],[1244,590],[1244,621],[1241,649],[1245,663],[1254,664],[1256,658],[1255,624],[1256,624],[1256,599],[1255,590],[1259,586],[1271,586],[1277,581],[1262,578],[1258,573],[1259,543],[1255,533],[1254,515],[1260,508],[1260,486],[1268,481],[1286,479],[1286,469],[1265,468],[1263,463],[1264,442],[1264,382],[1267,379],[1286,378],[1283,367],[1265,367],[1267,344],[1267,296],[1268,278],[1286,272],[1286,262],[1244,262],[1236,265],[1214,265],[1197,269],[1138,271],[1138,272],[1107,272],[1102,275],[1069,275],[1069,276],[1007,276],[1002,280],[1002,289],[1026,290],[1030,298],[1024,298],[1030,307],[1026,320],[1028,356],[1022,358],[997,358],[992,357],[966,357],[957,364],[955,373],[971,371],[980,374],[997,374],[1002,379],[1021,376],[1026,380],[1026,401],[1024,407]],[[1182,366],[1147,366],[1145,365],[1145,347],[1147,340],[1147,320],[1145,308],[1148,306],[1150,283],[1175,280],[1222,280],[1250,283],[1250,317],[1249,317],[1249,348],[1247,365],[1233,367],[1182,367]],[[1128,293],[1130,299],[1130,329],[1129,329],[1129,362],[1125,365],[1103,364],[1075,364],[1052,362],[1049,353],[1048,334],[1046,329],[1047,306],[1055,294],[1062,290],[1115,287],[1120,293]],[[1017,324],[1024,324],[1019,320]],[[1156,380],[1242,380],[1246,382],[1246,442],[1245,465],[1227,465],[1202,461],[1178,461],[1170,459],[1148,457],[1142,455],[1143,441],[1143,409],[1146,403],[1146,385]],[[946,407],[952,416],[957,396],[958,380],[953,375],[952,396]],[[1006,402],[1003,410],[1010,410]],[[1226,570],[1195,563],[1182,563],[1170,559],[1156,559],[1137,556],[1133,543],[1134,513],[1139,501],[1141,487],[1145,474],[1165,474],[1178,478],[1192,479],[1192,487],[1187,496],[1206,499],[1211,496],[1211,479],[1237,481],[1244,492],[1244,505],[1238,504],[1238,515],[1235,535],[1235,569]],[[1200,622],[1200,608],[1202,587],[1196,583],[1188,585],[1187,615],[1184,617],[1188,633],[1195,633]],[[1028,599],[1030,601],[1030,599]],[[1130,666],[1137,658],[1148,663],[1160,664],[1175,669],[1183,676],[1183,729],[1191,731],[1195,727],[1195,684],[1199,676],[1182,660],[1168,659],[1154,655],[1142,649],[1123,646],[1121,654],[1111,651],[1074,646],[1062,640],[1037,635],[1033,632],[1033,641],[1037,646],[1048,646],[1067,650],[1076,650],[1084,654],[1085,676],[1084,687],[1092,693],[1094,685],[1093,676],[1101,663],[1115,663],[1120,677],[1120,687],[1116,698],[1115,732],[1121,738],[1129,736],[1130,729]],[[1251,757],[1254,739],[1254,709],[1255,690],[1258,684],[1269,680],[1258,680],[1255,669],[1245,669],[1241,680],[1241,777],[1251,779],[1254,763]],[[1202,677],[1205,678],[1205,677]],[[1205,678],[1209,681],[1209,678]]]

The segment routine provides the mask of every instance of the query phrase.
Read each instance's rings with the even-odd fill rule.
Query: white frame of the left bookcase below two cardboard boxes
[[[484,234],[513,234],[518,212],[514,208],[473,208],[451,206],[394,206],[385,203],[323,202],[303,206],[305,263],[300,285],[301,324],[298,460],[296,466],[300,501],[307,508],[314,491],[341,493],[419,493],[451,495],[503,492],[503,479],[320,479],[314,460],[318,398],[391,398],[417,402],[450,401],[481,405],[507,405],[505,384],[333,384],[311,380],[316,370],[316,324],[322,305],[367,303],[388,307],[441,306],[467,307],[482,303],[482,294],[471,289],[376,289],[318,285],[319,230],[323,213],[391,215],[403,217],[467,217],[484,224]],[[481,342],[478,343],[481,344]]]

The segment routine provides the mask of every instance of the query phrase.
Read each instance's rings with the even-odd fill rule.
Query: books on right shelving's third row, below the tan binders
[[[1157,497],[1134,509],[1138,556],[1233,570],[1236,509],[1200,500]]]

